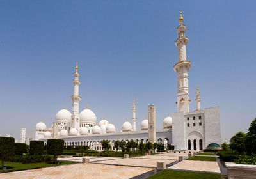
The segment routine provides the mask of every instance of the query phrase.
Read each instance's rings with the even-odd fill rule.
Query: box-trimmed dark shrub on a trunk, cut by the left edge
[[[2,169],[4,160],[15,155],[15,141],[13,137],[0,137],[0,159],[2,160]]]

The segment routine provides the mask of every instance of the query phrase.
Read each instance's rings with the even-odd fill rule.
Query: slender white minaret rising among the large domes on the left
[[[80,81],[79,81],[79,73],[77,72],[78,67],[77,67],[77,63],[76,63],[76,72],[74,72],[74,77],[75,79],[73,80],[73,84],[74,84],[74,93],[71,96],[72,99],[72,128],[76,128],[77,129],[77,134],[80,134],[80,115],[79,115],[79,101],[81,100],[81,97],[79,97],[79,85],[80,85]]]

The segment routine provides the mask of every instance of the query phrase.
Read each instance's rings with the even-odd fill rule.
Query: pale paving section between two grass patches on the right
[[[220,167],[217,162],[183,160],[168,169],[179,169],[186,171],[206,171],[212,173],[220,173]]]

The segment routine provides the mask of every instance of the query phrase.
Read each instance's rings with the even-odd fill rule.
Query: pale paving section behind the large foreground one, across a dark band
[[[164,160],[161,159],[161,161],[166,162],[166,164],[170,164],[174,162],[175,160]],[[104,161],[96,161],[93,162],[95,164],[111,164],[111,165],[120,165],[120,166],[140,166],[140,167],[156,167],[156,159],[135,159],[135,158],[129,158],[129,159],[116,159],[116,160],[104,160]]]

